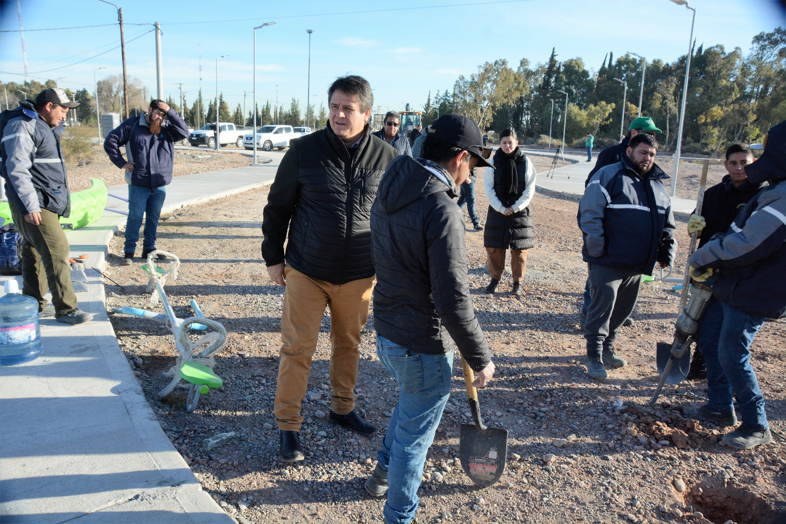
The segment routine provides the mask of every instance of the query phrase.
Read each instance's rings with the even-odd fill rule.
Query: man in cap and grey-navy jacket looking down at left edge
[[[70,247],[60,217],[71,212],[68,175],[60,147],[62,122],[68,109],[79,102],[68,100],[64,90],[46,89],[32,100],[19,102],[0,130],[0,174],[14,226],[24,238],[22,293],[39,301],[40,316],[79,324],[93,316],[77,308],[71,286]],[[52,304],[43,296],[52,292]]]

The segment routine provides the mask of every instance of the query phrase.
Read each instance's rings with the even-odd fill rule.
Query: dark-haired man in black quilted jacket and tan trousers
[[[286,462],[305,458],[298,437],[300,403],[325,308],[330,308],[332,345],[329,419],[359,434],[378,430],[354,410],[353,389],[374,281],[371,205],[398,153],[369,132],[373,94],[364,78],[336,79],[328,99],[328,125],[292,141],[263,212],[267,271],[286,286],[274,404]]]

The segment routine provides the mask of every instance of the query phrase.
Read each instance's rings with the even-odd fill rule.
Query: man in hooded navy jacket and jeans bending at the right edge
[[[718,426],[742,424],[723,436],[737,449],[769,444],[764,397],[751,366],[750,347],[766,319],[786,316],[786,122],[772,127],[762,157],[745,166],[747,182],[769,183],[740,211],[725,234],[716,234],[689,259],[691,275],[705,281],[718,271],[713,299],[701,318],[699,339],[707,361],[707,404],[685,416]]]

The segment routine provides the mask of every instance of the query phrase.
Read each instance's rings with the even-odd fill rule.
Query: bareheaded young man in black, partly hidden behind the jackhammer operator
[[[755,161],[753,151],[747,144],[732,144],[726,149],[726,160],[723,165],[728,175],[723,177],[719,184],[715,184],[704,192],[704,204],[701,216],[696,215],[696,210],[688,220],[688,231],[699,232],[699,248],[702,248],[714,234],[729,231],[740,209],[751,201],[767,183],[751,184],[748,182],[745,166]],[[696,343],[693,360],[690,363],[688,378],[696,380],[707,378],[707,366],[701,353],[703,340]]]

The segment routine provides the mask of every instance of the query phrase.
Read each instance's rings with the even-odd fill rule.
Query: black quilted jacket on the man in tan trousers
[[[292,140],[263,212],[265,264],[286,259],[337,286],[373,276],[369,215],[376,186],[397,154],[366,131],[353,155],[329,124]]]

